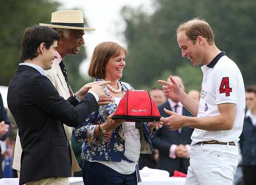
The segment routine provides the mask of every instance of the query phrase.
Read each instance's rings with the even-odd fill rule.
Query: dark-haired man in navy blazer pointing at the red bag
[[[8,107],[15,118],[23,152],[19,184],[69,184],[71,156],[62,123],[79,126],[98,108],[103,83],[88,83],[67,100],[44,76],[57,58],[59,34],[52,28],[25,30],[21,61],[8,87]],[[90,89],[90,91],[88,91]],[[79,102],[79,100],[80,102]]]

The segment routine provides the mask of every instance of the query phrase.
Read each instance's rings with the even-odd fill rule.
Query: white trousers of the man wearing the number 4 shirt
[[[193,145],[186,185],[233,185],[239,160],[237,146]]]

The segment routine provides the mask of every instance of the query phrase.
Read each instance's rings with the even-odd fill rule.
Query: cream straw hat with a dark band
[[[39,25],[51,28],[95,30],[95,28],[84,27],[82,10],[61,10],[53,12],[50,24],[39,23]]]

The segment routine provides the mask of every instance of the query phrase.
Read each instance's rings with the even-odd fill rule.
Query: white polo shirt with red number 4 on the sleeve
[[[210,64],[201,67],[204,77],[201,87],[197,117],[217,116],[218,104],[237,104],[233,129],[227,131],[205,131],[195,129],[191,135],[191,145],[200,141],[217,140],[237,143],[243,130],[245,114],[245,89],[243,77],[235,62],[225,52],[218,54]]]

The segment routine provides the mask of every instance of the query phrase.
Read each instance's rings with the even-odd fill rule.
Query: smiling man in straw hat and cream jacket
[[[48,26],[55,31],[57,31],[61,37],[58,41],[57,56],[53,63],[52,69],[46,71],[45,75],[52,81],[53,85],[59,92],[59,95],[67,99],[71,94],[73,94],[67,79],[67,72],[62,58],[67,55],[77,55],[80,46],[83,45],[84,30],[94,31],[94,28],[84,27],[84,18],[82,10],[62,10],[52,13],[51,24],[40,23],[39,25]],[[101,102],[102,101],[102,102]],[[105,101],[111,101],[108,98],[101,98],[99,100],[100,104],[105,104]],[[65,108],[65,107],[63,107]],[[73,127],[68,127],[64,125],[67,138],[69,140],[69,149],[71,154],[71,170],[73,172],[80,171],[78,162],[73,154],[73,150],[70,145],[70,138],[73,131]],[[18,176],[20,173],[21,166],[21,143],[19,135],[17,134],[17,139],[15,143],[13,168],[17,170]],[[40,166],[38,166],[40,168]]]

